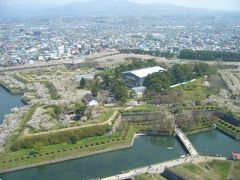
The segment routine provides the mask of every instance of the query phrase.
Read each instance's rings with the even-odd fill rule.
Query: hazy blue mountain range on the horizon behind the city
[[[0,17],[34,16],[161,16],[210,14],[205,9],[186,8],[169,4],[138,4],[126,0],[93,0],[63,6],[0,4]],[[214,11],[217,12],[217,11]],[[218,11],[219,12],[219,11]]]

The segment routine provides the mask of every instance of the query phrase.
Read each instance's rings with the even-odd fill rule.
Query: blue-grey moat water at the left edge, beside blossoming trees
[[[21,107],[23,105],[21,96],[12,95],[0,86],[0,124],[4,119],[4,115],[9,114],[12,108]]]

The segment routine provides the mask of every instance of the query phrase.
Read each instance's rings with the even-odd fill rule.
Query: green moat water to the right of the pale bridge
[[[228,156],[232,151],[240,152],[240,141],[236,141],[219,130],[189,135],[189,140],[199,153],[222,154]]]

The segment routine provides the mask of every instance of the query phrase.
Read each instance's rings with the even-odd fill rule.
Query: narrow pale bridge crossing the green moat
[[[186,147],[186,149],[188,150],[189,154],[191,156],[198,156],[197,150],[194,148],[194,146],[189,141],[187,136],[183,133],[183,131],[180,128],[176,127],[175,128],[175,133],[179,137],[179,139],[182,141],[183,145]]]

